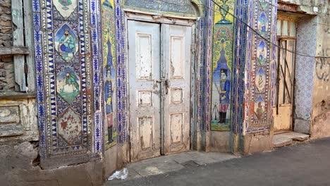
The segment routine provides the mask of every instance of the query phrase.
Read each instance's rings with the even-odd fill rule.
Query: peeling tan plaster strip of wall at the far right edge
[[[317,16],[317,56],[314,68],[314,91],[311,138],[330,137],[330,7],[324,4]]]

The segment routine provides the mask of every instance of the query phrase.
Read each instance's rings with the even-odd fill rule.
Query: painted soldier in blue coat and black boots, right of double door
[[[221,68],[220,79],[219,123],[226,123],[227,109],[230,104],[229,93],[231,91],[231,82],[227,80],[227,69]]]

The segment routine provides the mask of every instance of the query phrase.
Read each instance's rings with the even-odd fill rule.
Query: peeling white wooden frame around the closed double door
[[[124,11],[124,23],[125,23],[125,59],[124,64],[126,65],[126,75],[129,75],[129,58],[128,58],[128,20],[137,20],[147,23],[159,23],[159,24],[170,24],[170,25],[183,25],[183,26],[190,26],[192,27],[192,33],[191,33],[191,45],[190,49],[192,51],[192,54],[190,56],[190,149],[193,149],[194,146],[197,146],[197,104],[196,104],[196,80],[197,80],[197,60],[196,60],[196,48],[197,45],[195,44],[195,35],[196,35],[196,22],[199,19],[199,17],[193,18],[193,17],[180,17],[180,16],[164,16],[157,13],[146,13],[141,11],[135,11],[131,9],[123,8]],[[162,31],[161,31],[162,32]],[[162,40],[162,35],[161,35]],[[162,47],[161,47],[161,53],[162,53]],[[163,58],[161,58],[161,66],[164,65]],[[126,78],[126,89],[129,89],[129,78]],[[126,97],[126,103],[129,103],[130,99],[130,92],[127,92]],[[162,99],[162,98],[161,98]],[[163,106],[161,105],[161,108]],[[130,105],[126,104],[126,113],[127,116],[130,116]],[[161,155],[164,151],[164,118],[161,113]],[[130,123],[130,117],[127,118],[128,120],[128,159],[130,160],[130,129],[131,129],[131,123]]]

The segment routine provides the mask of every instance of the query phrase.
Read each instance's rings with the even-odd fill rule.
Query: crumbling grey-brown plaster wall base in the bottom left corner
[[[1,185],[102,185],[102,161],[42,170],[37,151],[35,142],[1,145]]]

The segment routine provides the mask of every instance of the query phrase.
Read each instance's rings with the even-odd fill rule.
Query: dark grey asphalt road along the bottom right
[[[330,185],[330,138],[105,185]]]

